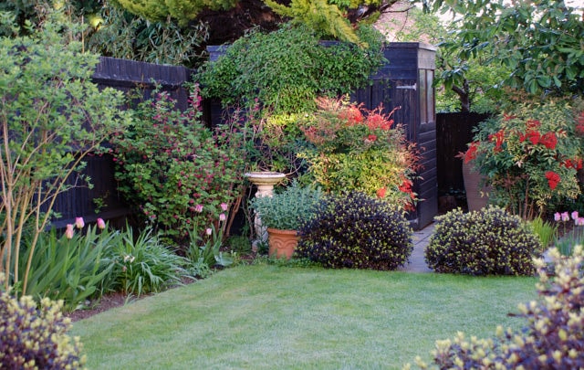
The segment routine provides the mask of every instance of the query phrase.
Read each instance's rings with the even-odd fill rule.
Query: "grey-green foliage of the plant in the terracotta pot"
[[[316,216],[321,196],[320,189],[302,186],[294,181],[273,196],[255,197],[250,206],[261,218],[263,227],[297,230],[303,222]]]

